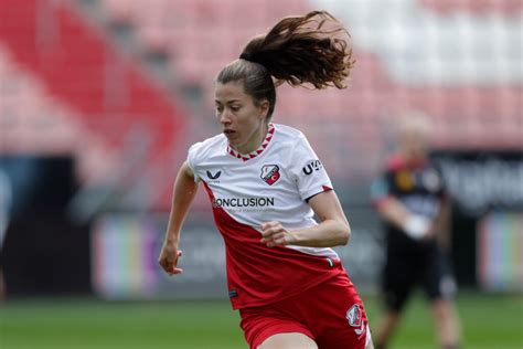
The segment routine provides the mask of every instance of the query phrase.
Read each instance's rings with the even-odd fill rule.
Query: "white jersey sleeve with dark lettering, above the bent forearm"
[[[307,138],[300,134],[290,158],[290,173],[298,184],[302,200],[332,190],[332,183]]]

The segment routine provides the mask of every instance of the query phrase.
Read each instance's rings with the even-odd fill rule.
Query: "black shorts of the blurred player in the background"
[[[451,298],[456,293],[450,263],[434,244],[398,252],[388,248],[383,273],[383,295],[389,310],[399,311],[415,286],[430,300]]]

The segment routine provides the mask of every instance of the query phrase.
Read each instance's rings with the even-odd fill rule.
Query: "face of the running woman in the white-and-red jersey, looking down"
[[[268,102],[255,104],[242,82],[216,83],[216,118],[230,145],[239,152],[256,150],[265,139]]]

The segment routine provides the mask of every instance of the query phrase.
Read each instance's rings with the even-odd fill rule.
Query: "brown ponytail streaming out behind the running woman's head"
[[[354,64],[348,39],[346,30],[330,13],[312,11],[280,20],[266,35],[250,40],[242,55],[293,86],[343,88]]]

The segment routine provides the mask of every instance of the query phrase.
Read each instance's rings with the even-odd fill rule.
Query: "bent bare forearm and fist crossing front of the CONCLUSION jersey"
[[[318,225],[288,230],[280,222],[262,224],[262,242],[269,247],[298,245],[309,247],[332,247],[349,243],[351,228],[340,200],[333,190],[313,195],[308,201],[320,220]]]

